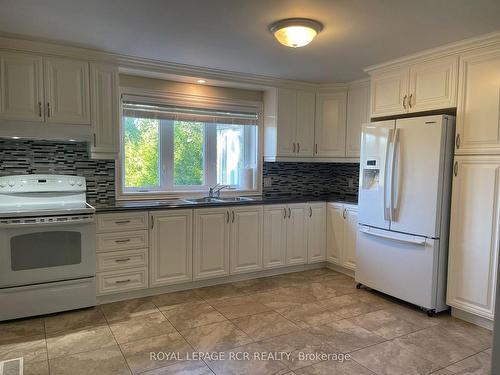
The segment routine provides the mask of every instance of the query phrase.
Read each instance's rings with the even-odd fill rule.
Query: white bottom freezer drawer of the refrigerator
[[[360,225],[356,251],[357,282],[426,309],[447,308],[437,287],[439,240]]]

